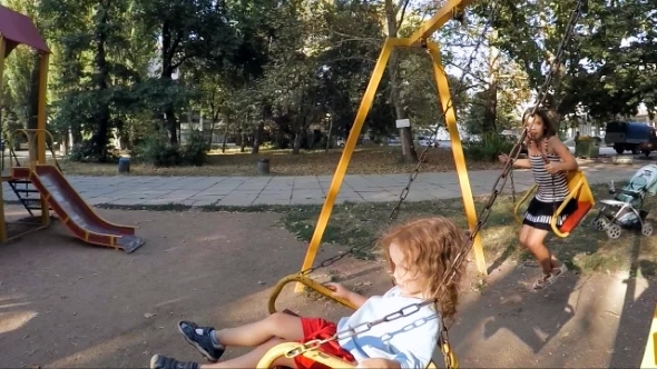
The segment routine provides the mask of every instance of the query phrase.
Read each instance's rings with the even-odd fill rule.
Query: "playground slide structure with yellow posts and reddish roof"
[[[1,182],[9,183],[30,216],[33,216],[33,210],[39,210],[40,221],[29,231],[9,238],[4,220],[4,203],[0,201],[0,242],[49,227],[52,209],[66,227],[85,242],[122,249],[126,252],[135,251],[144,245],[144,240],[135,236],[136,228],[102,220],[61,173],[51,147],[52,136],[46,130],[46,89],[50,50],[28,17],[2,6],[0,6],[0,97],[4,59],[21,43],[40,53],[38,128],[19,129],[8,137],[10,161],[8,170],[4,170],[6,163],[2,159]],[[23,163],[16,154],[12,144],[18,134],[24,136],[28,142],[29,157],[23,159]],[[46,163],[46,147],[52,154],[55,166]],[[2,187],[0,187],[1,195]],[[35,195],[39,196],[35,197]]]

